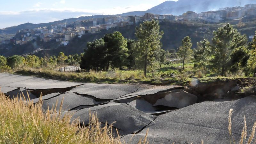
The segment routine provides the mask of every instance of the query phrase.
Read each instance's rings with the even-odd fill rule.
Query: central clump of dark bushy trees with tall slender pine
[[[157,21],[145,21],[136,28],[137,41],[125,39],[120,32],[106,34],[100,39],[87,43],[87,49],[81,57],[80,68],[108,70],[124,67],[144,68],[144,75],[149,70],[153,74],[155,63],[163,63],[168,51],[161,49],[163,31]],[[148,67],[150,66],[150,67]]]

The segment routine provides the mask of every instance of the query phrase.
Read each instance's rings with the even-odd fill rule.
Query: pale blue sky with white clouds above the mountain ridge
[[[166,0],[0,0],[0,28],[84,15],[145,11],[164,1]]]

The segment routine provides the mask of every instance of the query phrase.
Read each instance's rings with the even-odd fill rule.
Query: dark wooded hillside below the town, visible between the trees
[[[160,29],[164,31],[163,38],[161,40],[163,44],[163,49],[178,49],[181,45],[181,41],[185,36],[189,36],[192,40],[193,46],[196,47],[196,43],[206,39],[212,38],[212,33],[217,28],[222,27],[224,24],[204,24],[198,22],[170,22],[164,21],[160,23]],[[114,31],[119,31],[122,33],[124,38],[136,39],[135,28],[138,25],[131,25],[120,28],[111,28],[109,30],[102,30],[99,33],[90,34],[87,33],[82,38],[75,37],[67,46],[59,46],[57,42],[42,43],[40,41],[32,41],[25,45],[15,45],[11,50],[1,50],[0,55],[12,56],[12,55],[22,55],[31,53],[37,48],[45,49],[36,53],[38,56],[58,55],[59,52],[64,52],[66,55],[82,53],[86,48],[87,42],[91,42],[95,39],[103,37],[105,34],[113,33]],[[246,34],[247,37],[254,35],[256,29],[255,21],[250,22],[239,22],[238,24],[233,23],[233,27],[238,29],[241,34]],[[46,50],[47,49],[47,50]]]

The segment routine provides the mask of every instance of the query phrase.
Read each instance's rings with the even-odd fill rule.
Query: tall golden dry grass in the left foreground
[[[94,114],[89,125],[83,126],[78,119],[70,121],[72,114],[63,116],[56,113],[56,108],[46,112],[41,108],[41,100],[36,104],[30,100],[24,103],[18,98],[10,100],[0,92],[0,143],[124,143],[113,137],[112,124],[101,127]],[[146,144],[146,138],[139,143]]]

